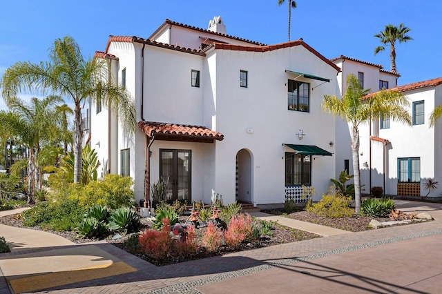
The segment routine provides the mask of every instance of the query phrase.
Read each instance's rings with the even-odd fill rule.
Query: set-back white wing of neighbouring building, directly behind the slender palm
[[[358,59],[345,57],[341,55],[331,60],[336,66],[340,68],[338,73],[339,96],[342,97],[346,89],[347,76],[350,74],[358,77],[364,89],[371,89],[371,92],[377,92],[381,89],[394,88],[397,86],[397,79],[399,75],[394,72],[387,72],[383,70],[383,66],[361,61]],[[377,124],[377,121],[375,122]],[[365,138],[361,137],[361,144]],[[368,142],[369,139],[367,139]],[[345,121],[336,119],[336,179],[339,173],[347,170],[350,175],[353,175],[353,160],[351,148],[351,128]],[[364,157],[365,154],[365,157]],[[363,163],[367,161],[368,153],[360,152],[361,173],[366,166]],[[364,183],[365,184],[365,183]],[[369,185],[365,184],[365,193],[369,193]]]

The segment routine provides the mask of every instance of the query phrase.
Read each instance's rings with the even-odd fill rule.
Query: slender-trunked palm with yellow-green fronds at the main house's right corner
[[[410,106],[402,92],[382,90],[363,99],[370,89],[363,90],[355,75],[347,76],[347,90],[342,99],[325,95],[323,110],[343,118],[352,127],[352,159],[356,213],[361,210],[361,177],[359,170],[359,125],[379,117],[390,117],[394,121],[412,125],[412,117],[406,106]]]

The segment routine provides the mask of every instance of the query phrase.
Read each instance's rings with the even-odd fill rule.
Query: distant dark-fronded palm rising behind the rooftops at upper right
[[[398,27],[389,24],[385,26],[385,30],[383,32],[379,32],[379,34],[374,35],[381,39],[381,43],[390,44],[390,59],[392,59],[392,72],[396,73],[396,48],[394,47],[394,43],[398,41],[399,43],[410,41],[413,38],[405,35],[407,32],[410,32],[410,28],[403,26],[401,23]],[[374,55],[379,52],[385,50],[385,46],[378,46],[374,49]]]

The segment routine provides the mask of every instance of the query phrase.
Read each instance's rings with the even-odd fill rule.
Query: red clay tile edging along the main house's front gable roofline
[[[330,66],[338,70],[340,72],[340,68],[336,66],[332,61],[329,61],[329,59],[325,58],[323,55],[320,55],[320,53],[314,48],[311,48],[307,43],[302,41],[302,39],[296,40],[296,41],[290,41],[286,43],[280,43],[276,45],[269,45],[269,46],[260,46],[260,47],[253,47],[253,46],[241,46],[241,45],[233,45],[233,44],[224,44],[224,43],[213,43],[213,46],[215,49],[221,49],[221,50],[238,50],[238,51],[252,51],[252,52],[266,52],[266,51],[272,51],[277,50],[281,48],[289,48],[294,46],[303,46],[307,50],[309,50],[311,53],[328,63]],[[210,47],[210,46],[209,46]],[[208,48],[209,48],[208,47]],[[206,50],[208,49],[206,48]]]

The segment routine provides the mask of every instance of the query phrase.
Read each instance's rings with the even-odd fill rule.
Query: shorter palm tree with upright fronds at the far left
[[[35,188],[41,186],[41,170],[36,158],[41,144],[53,136],[57,128],[55,106],[63,101],[59,96],[49,96],[39,100],[32,98],[30,103],[12,97],[8,104],[12,115],[4,121],[5,126],[17,134],[24,144],[29,146],[28,159],[28,202],[34,203]]]

